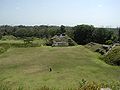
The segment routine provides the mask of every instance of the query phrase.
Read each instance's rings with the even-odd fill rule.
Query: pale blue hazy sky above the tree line
[[[120,26],[120,0],[0,0],[0,25]]]

